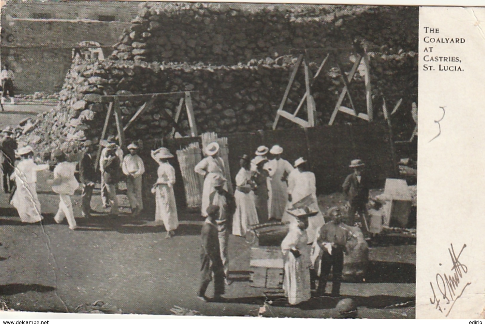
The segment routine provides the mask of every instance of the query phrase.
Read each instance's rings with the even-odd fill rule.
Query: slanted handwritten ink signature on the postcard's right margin
[[[443,302],[446,302],[446,305],[449,305],[451,303],[451,306],[448,308],[448,312],[445,315],[446,317],[448,317],[448,315],[452,311],[455,302],[461,297],[465,289],[471,284],[471,282],[465,283],[465,286],[461,288],[460,291],[460,279],[463,279],[463,276],[468,273],[468,267],[467,265],[461,263],[459,261],[459,258],[461,256],[461,253],[463,252],[463,249],[467,247],[467,244],[463,245],[460,252],[458,253],[458,256],[456,256],[455,254],[453,244],[450,244],[450,246],[451,248],[448,248],[448,252],[450,253],[450,257],[453,263],[453,267],[451,268],[451,271],[454,271],[453,274],[447,275],[446,273],[443,273],[443,275],[441,275],[439,273],[436,273],[436,288],[439,290]],[[441,266],[441,263],[439,263],[439,265]],[[436,305],[436,310],[443,312],[443,310],[446,310],[446,308],[441,308],[441,300],[436,297],[433,283],[430,282],[429,284],[431,286],[431,291],[433,292],[433,297],[429,298],[429,301],[433,305]]]

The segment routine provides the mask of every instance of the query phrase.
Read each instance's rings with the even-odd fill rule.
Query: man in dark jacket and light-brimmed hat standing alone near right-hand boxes
[[[364,233],[368,232],[367,217],[367,202],[369,202],[369,180],[365,173],[362,172],[365,164],[360,159],[354,159],[350,163],[350,168],[354,172],[347,176],[343,182],[342,189],[349,201],[349,213],[347,224],[354,226],[356,213],[362,217],[362,222],[365,225]]]

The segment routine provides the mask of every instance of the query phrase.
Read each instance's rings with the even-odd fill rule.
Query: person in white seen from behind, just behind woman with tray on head
[[[317,230],[325,224],[323,214],[318,207],[315,174],[308,171],[307,161],[302,157],[296,159],[295,169],[288,176],[288,204],[287,209],[308,207],[318,214],[308,218],[308,244],[315,240]],[[282,222],[294,222],[295,217],[285,211]]]

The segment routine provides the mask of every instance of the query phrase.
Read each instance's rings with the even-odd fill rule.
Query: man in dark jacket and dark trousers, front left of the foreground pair
[[[221,261],[219,238],[215,220],[219,217],[219,206],[210,204],[207,208],[207,217],[202,226],[200,236],[202,248],[200,250],[201,279],[197,298],[207,301],[206,290],[214,273],[214,301],[221,301],[224,294],[224,267]]]

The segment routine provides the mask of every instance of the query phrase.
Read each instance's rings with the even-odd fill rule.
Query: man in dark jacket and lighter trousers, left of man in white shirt
[[[119,181],[120,174],[120,159],[116,155],[116,144],[110,143],[107,147],[106,158],[101,162],[103,164],[103,179],[106,183],[106,189],[108,191],[108,200],[110,201],[112,217],[117,217],[118,200],[116,199],[116,184]]]

